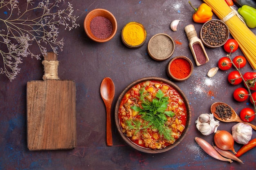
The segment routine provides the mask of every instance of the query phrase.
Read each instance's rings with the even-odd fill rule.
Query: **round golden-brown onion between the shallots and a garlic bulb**
[[[214,135],[214,143],[222,150],[232,150],[236,154],[234,149],[234,139],[232,135],[226,130],[217,130]]]

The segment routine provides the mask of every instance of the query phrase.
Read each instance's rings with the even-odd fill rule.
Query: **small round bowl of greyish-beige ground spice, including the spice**
[[[154,35],[148,42],[148,54],[157,61],[164,61],[171,57],[174,49],[173,39],[164,33]]]

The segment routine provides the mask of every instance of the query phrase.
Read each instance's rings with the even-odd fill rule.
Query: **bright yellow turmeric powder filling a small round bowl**
[[[137,22],[129,22],[124,27],[122,36],[127,44],[137,46],[146,39],[146,30]]]

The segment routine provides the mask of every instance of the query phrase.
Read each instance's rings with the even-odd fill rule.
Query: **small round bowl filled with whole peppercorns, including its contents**
[[[221,33],[219,33],[219,31],[221,31]],[[210,38],[212,35],[215,38]],[[218,35],[218,37],[216,35]],[[200,38],[205,46],[209,48],[217,48],[227,42],[227,39],[229,38],[229,29],[221,20],[209,20],[203,24],[200,31]]]

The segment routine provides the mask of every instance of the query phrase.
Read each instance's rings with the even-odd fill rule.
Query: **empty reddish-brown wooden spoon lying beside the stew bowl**
[[[107,145],[112,146],[112,130],[111,130],[111,105],[115,96],[115,85],[109,77],[101,82],[101,97],[105,103],[107,110]]]

